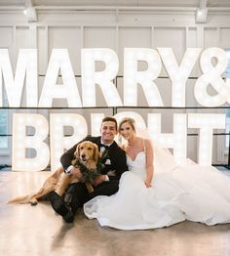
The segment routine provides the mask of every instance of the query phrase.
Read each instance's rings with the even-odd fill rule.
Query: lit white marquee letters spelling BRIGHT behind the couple
[[[180,113],[173,115],[173,133],[161,133],[161,114],[148,113],[148,127],[143,118],[136,112],[119,112],[114,117],[120,121],[124,116],[135,119],[137,134],[147,131],[154,145],[173,149],[175,162],[183,163],[186,159],[187,128],[200,131],[199,163],[211,165],[213,129],[224,129],[225,115],[210,113]],[[91,134],[99,135],[103,113],[91,114]],[[64,127],[72,128],[71,136],[64,136]],[[26,135],[26,128],[33,128],[33,135]],[[38,171],[45,169],[51,161],[52,170],[59,166],[59,157],[64,149],[70,149],[88,134],[86,119],[77,113],[50,114],[50,149],[46,143],[49,135],[49,124],[41,114],[15,113],[13,117],[13,170]],[[26,149],[36,152],[34,157],[26,156]],[[50,154],[51,152],[51,154]]]

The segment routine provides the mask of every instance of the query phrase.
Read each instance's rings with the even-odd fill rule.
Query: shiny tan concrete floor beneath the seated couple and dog
[[[230,224],[183,222],[157,230],[118,231],[101,228],[82,211],[73,224],[65,224],[49,202],[7,204],[13,196],[39,189],[48,175],[0,171],[0,255],[230,255]]]

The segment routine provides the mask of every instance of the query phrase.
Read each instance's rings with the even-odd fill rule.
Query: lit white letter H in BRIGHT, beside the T
[[[187,118],[186,114],[173,114],[173,134],[161,133],[161,114],[148,114],[148,132],[154,142],[163,148],[173,149],[176,163],[182,164],[187,155]]]

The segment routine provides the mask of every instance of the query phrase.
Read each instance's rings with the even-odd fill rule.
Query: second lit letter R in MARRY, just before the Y
[[[145,62],[148,68],[138,71],[138,62]],[[124,53],[124,106],[137,106],[137,84],[143,88],[149,107],[162,107],[163,102],[153,82],[161,72],[161,59],[152,49],[125,48]]]

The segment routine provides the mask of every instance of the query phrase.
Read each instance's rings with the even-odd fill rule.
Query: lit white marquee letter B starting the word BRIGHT
[[[26,127],[35,129],[34,135],[26,135]],[[50,161],[50,150],[44,140],[48,136],[48,122],[41,114],[14,113],[12,169],[14,171],[40,171]],[[36,155],[26,156],[26,149],[35,149]]]

